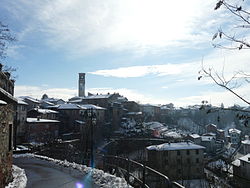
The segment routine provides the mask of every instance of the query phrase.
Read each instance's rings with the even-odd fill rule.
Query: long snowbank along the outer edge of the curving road
[[[125,179],[116,177],[114,175],[108,174],[104,172],[103,170],[95,169],[95,168],[90,168],[87,167],[86,165],[80,165],[77,163],[70,163],[67,160],[58,160],[58,159],[53,159],[49,158],[46,156],[41,156],[41,155],[35,155],[35,154],[19,154],[19,155],[13,155],[14,158],[18,157],[36,157],[42,160],[47,160],[51,161],[55,164],[68,167],[68,168],[73,168],[81,171],[83,174],[89,174],[91,173],[93,181],[95,184],[99,185],[102,188],[109,188],[109,187],[116,187],[116,188],[122,188],[122,187],[131,187],[127,184]]]

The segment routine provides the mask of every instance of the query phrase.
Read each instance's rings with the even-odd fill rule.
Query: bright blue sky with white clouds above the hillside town
[[[214,33],[234,23],[215,4],[1,0],[0,20],[17,38],[5,59],[17,68],[15,96],[67,100],[77,95],[78,73],[84,72],[86,93],[118,92],[143,104],[245,105],[211,79],[197,79],[202,62],[226,78],[250,71],[247,50],[213,48]],[[250,88],[243,84],[237,91],[247,98]]]

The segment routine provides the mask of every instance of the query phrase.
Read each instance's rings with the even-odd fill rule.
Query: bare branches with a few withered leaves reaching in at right
[[[250,11],[247,10],[249,9],[247,2],[244,0],[219,0],[217,1],[214,10],[218,9],[225,9],[229,16],[236,18],[235,22],[237,23],[231,25],[231,30],[236,30],[238,35],[236,33],[231,34],[223,31],[223,29],[219,29],[212,37],[213,46],[228,50],[250,49],[250,41],[247,38],[247,31],[250,31]],[[199,74],[198,80],[202,77],[209,77],[215,84],[228,90],[243,102],[250,105],[250,101],[235,90],[244,83],[250,83],[250,73],[235,70],[232,77],[226,79],[224,76],[224,66],[221,73],[218,73],[218,71],[212,67],[205,68],[202,60],[202,68]]]

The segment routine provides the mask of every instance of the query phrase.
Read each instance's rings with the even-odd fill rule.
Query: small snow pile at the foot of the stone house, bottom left
[[[13,181],[5,188],[25,188],[27,184],[27,177],[25,171],[16,165],[12,165]]]

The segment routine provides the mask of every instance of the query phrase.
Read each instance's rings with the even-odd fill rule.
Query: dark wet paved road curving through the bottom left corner
[[[97,188],[90,175],[37,158],[14,158],[14,164],[25,170],[27,188]]]

